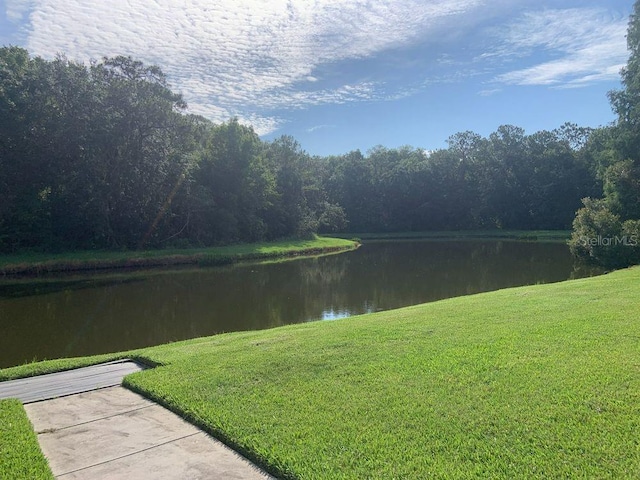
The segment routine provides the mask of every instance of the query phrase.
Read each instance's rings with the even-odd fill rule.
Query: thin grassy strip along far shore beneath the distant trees
[[[359,238],[361,240],[519,240],[566,242],[571,230],[455,230],[442,232],[387,232],[387,233],[349,233],[337,235],[341,238]]]

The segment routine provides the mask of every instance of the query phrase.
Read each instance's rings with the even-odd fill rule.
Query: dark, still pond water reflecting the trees
[[[367,242],[279,263],[0,283],[0,368],[279,325],[330,320],[601,273],[566,245]]]

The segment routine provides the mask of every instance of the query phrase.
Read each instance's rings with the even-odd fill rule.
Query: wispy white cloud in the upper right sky
[[[547,85],[558,88],[585,86],[615,80],[626,63],[627,19],[601,9],[543,10],[525,14],[511,25],[499,57],[533,57],[538,63],[499,75],[512,85]]]

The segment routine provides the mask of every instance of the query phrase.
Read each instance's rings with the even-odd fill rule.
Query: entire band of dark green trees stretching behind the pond
[[[612,94],[615,126],[527,135],[504,125],[486,138],[457,133],[435,151],[377,146],[319,157],[290,136],[267,142],[237,119],[188,114],[157,66],[122,56],[85,65],[3,47],[0,251],[569,229],[583,205],[575,222],[608,209],[622,232],[640,218],[631,70],[627,90]]]

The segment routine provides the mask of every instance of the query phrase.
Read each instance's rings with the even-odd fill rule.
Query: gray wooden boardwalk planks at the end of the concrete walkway
[[[119,360],[66,372],[9,380],[0,382],[0,399],[17,398],[22,403],[31,403],[112,387],[120,385],[125,375],[144,368],[132,360]]]

